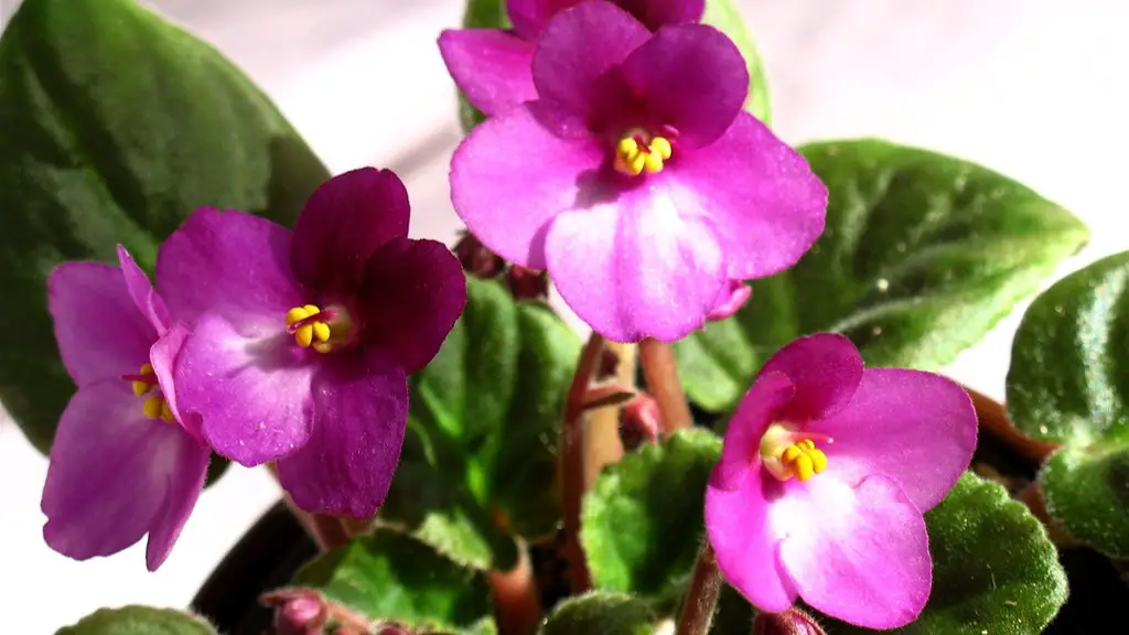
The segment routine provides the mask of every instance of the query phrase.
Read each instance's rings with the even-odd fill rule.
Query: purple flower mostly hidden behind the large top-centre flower
[[[506,2],[511,31],[448,29],[439,36],[439,52],[455,84],[487,115],[537,98],[530,67],[533,51],[550,18],[583,0],[510,0]],[[706,0],[615,0],[647,28],[695,23]]]

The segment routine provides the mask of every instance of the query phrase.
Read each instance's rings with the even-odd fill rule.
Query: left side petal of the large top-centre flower
[[[549,221],[576,206],[584,177],[596,173],[605,154],[594,139],[554,137],[519,106],[481,123],[455,150],[450,199],[493,252],[544,269]]]

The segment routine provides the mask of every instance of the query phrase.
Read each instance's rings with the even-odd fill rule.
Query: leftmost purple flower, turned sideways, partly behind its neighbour
[[[169,322],[125,247],[117,256],[121,269],[68,262],[47,280],[55,340],[78,392],[51,447],[43,538],[85,560],[148,533],[146,564],[157,571],[196,504],[211,453],[173,389],[187,330]]]

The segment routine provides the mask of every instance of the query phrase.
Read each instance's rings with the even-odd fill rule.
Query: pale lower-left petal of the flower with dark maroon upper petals
[[[200,318],[174,380],[180,411],[203,418],[216,452],[253,467],[309,438],[310,381],[321,360],[278,325],[242,327],[213,313]]]

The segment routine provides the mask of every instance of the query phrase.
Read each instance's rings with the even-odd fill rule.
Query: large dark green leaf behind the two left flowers
[[[42,452],[75,386],[46,278],[64,260],[151,269],[195,208],[287,223],[326,176],[211,46],[133,0],[26,0],[0,38],[0,400]]]

